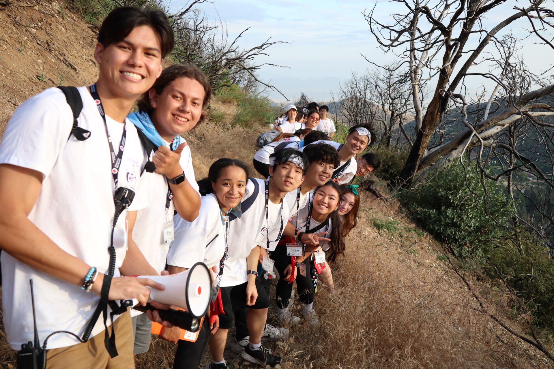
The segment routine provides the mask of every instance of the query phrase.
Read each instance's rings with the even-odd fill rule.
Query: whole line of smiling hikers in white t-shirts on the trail
[[[312,106],[300,123],[289,106],[288,123],[253,158],[265,179],[222,158],[197,181],[181,135],[203,122],[212,89],[196,66],[162,68],[173,44],[163,12],[115,9],[99,30],[95,84],[30,97],[3,134],[3,324],[19,350],[36,321],[45,367],[134,368],[152,322],[160,339],[177,344],[174,368],[197,368],[208,342],[206,368],[227,368],[233,324],[230,350],[273,367],[281,358],[261,342],[285,339],[295,324],[318,325],[317,284],[334,288],[330,264],[343,255],[360,204],[351,182],[381,165],[362,155],[375,140],[371,127],[351,127],[337,143],[332,121],[332,131],[317,128],[328,109]],[[198,262],[212,270],[216,294],[193,339],[159,313],[183,306],[153,301],[141,313],[114,303],[144,306],[151,289],[165,287],[140,276]],[[268,324],[275,279],[278,328]]]

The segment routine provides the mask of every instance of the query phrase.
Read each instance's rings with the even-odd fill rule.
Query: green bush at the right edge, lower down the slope
[[[539,328],[554,330],[554,261],[540,240],[521,232],[519,241],[499,243],[491,249],[487,274],[500,278],[526,302]],[[514,302],[515,309],[520,308]],[[550,337],[552,340],[552,337]]]

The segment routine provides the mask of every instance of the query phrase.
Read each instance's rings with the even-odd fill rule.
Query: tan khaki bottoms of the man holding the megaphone
[[[100,316],[100,319],[102,316]],[[109,319],[109,318],[108,318]],[[108,327],[111,335],[111,328]],[[117,355],[110,357],[104,346],[105,331],[87,342],[59,349],[47,350],[47,369],[134,369],[133,327],[129,311],[114,322],[115,344]]]

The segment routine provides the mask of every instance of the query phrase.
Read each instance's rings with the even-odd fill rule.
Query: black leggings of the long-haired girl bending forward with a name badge
[[[284,309],[289,306],[290,295],[293,293],[293,284],[284,280],[285,268],[290,264],[290,256],[286,256],[286,246],[278,245],[275,251],[271,252],[271,259],[275,261],[275,268],[279,272],[279,282],[275,287],[275,302],[277,307]],[[305,262],[309,262],[307,258]],[[310,276],[310,266],[306,264],[306,276],[300,274],[300,268],[296,268],[296,290],[302,304],[314,302],[314,282]]]

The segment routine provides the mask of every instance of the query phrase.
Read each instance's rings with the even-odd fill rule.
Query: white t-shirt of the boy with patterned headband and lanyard
[[[267,228],[269,228],[269,251],[274,251],[277,246],[277,236],[281,220],[283,220],[283,229],[289,215],[289,207],[286,201],[283,201],[283,211],[281,212],[281,204],[273,204],[268,201],[268,216],[266,223],[265,219],[265,180],[255,178],[258,182],[260,190],[256,200],[245,211],[240,219],[235,219],[230,223],[229,231],[229,259],[225,261],[223,278],[221,286],[233,286],[242,284],[248,281],[246,257],[250,251],[258,245],[266,247],[267,243]],[[244,195],[242,202],[252,195],[254,184],[249,180],[247,184],[247,193]]]

